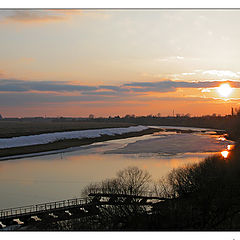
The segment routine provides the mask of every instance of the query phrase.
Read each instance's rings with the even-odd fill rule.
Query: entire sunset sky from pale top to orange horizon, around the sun
[[[0,10],[0,114],[230,114],[239,22],[240,10]]]

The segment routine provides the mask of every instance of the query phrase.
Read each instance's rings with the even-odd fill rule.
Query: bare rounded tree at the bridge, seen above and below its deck
[[[88,185],[82,192],[87,196],[91,192],[111,194],[144,195],[151,183],[150,174],[137,167],[128,167],[117,172],[116,177],[100,183]],[[118,229],[119,224],[124,224],[129,219],[138,218],[139,214],[146,212],[146,206],[140,205],[110,205],[101,206],[98,215],[98,226],[107,230]]]

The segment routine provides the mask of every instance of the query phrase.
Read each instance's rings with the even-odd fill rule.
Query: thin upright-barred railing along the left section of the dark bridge
[[[43,211],[56,210],[60,208],[68,208],[71,206],[81,206],[89,203],[88,198],[74,198],[68,200],[62,200],[57,202],[48,202],[36,205],[29,205],[24,207],[8,208],[0,210],[0,218],[19,216],[31,213],[39,213]]]

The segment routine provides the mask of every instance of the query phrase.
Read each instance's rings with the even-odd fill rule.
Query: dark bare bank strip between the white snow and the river
[[[80,147],[80,146],[89,145],[97,142],[108,141],[108,140],[139,137],[139,136],[153,134],[155,132],[160,132],[160,131],[163,131],[163,129],[148,128],[142,131],[128,132],[124,134],[102,135],[100,137],[95,137],[95,138],[63,139],[63,140],[51,142],[48,144],[5,148],[5,149],[0,149],[0,161],[21,158],[21,156],[24,156],[26,154],[41,153],[41,155],[44,155],[45,152],[47,154],[47,152],[51,152],[51,151],[58,151],[58,150],[63,150],[63,149],[68,149],[73,147]]]

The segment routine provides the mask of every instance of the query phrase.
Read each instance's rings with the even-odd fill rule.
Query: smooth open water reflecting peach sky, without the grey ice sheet
[[[104,154],[137,140],[156,137],[158,136],[146,135],[112,140],[63,154],[2,161],[0,208],[79,197],[89,183],[112,178],[118,170],[129,166],[146,169],[154,179],[158,179],[168,174],[172,168],[197,163],[215,153]]]

